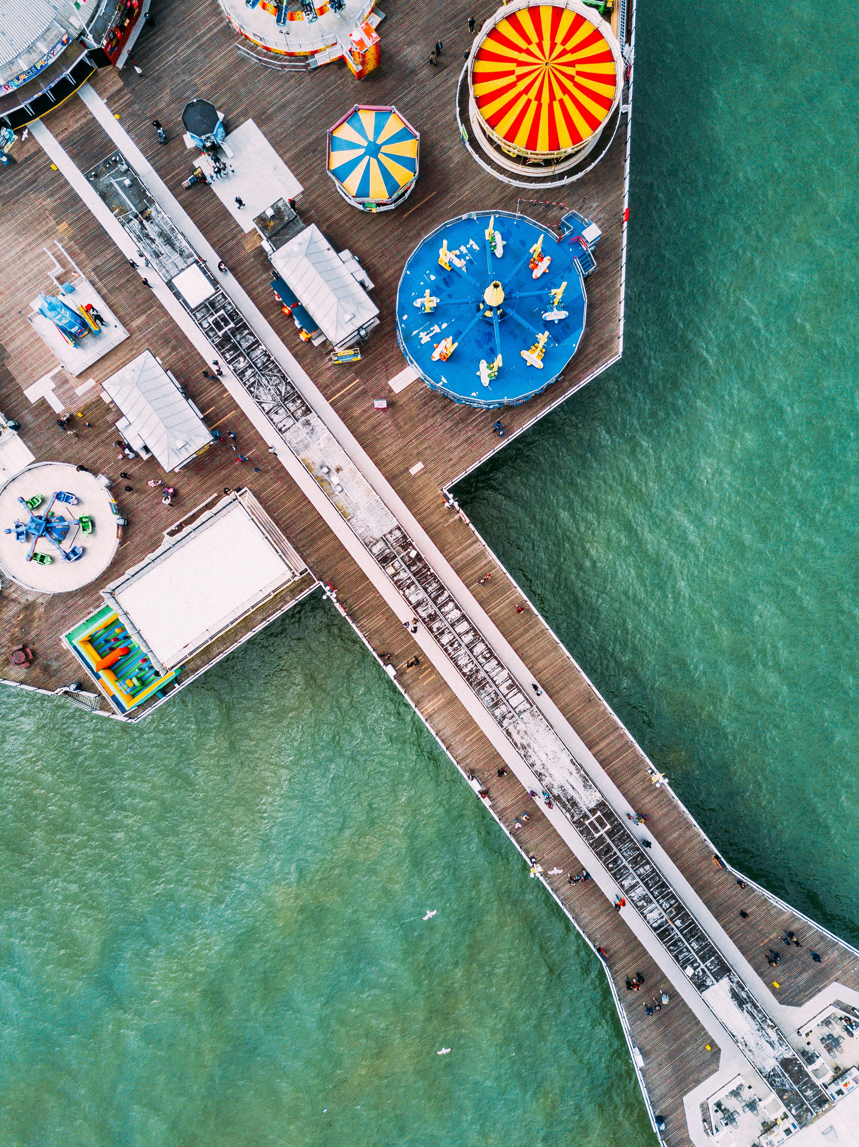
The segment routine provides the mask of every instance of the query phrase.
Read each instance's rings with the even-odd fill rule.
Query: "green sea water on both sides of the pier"
[[[858,39],[639,6],[625,357],[459,492],[853,942]],[[0,692],[0,1144],[654,1141],[600,968],[329,606],[138,728]]]

